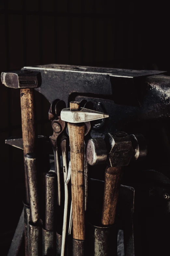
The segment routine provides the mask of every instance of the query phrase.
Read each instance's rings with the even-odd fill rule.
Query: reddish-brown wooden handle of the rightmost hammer
[[[121,177],[122,167],[106,167],[102,225],[112,225],[115,222]]]

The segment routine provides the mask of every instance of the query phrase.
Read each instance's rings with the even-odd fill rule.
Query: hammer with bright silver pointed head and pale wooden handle
[[[108,115],[80,108],[79,102],[70,102],[70,108],[61,111],[61,120],[68,122],[71,162],[71,191],[73,208],[73,238],[85,240],[84,205],[84,135],[85,122],[106,118]]]

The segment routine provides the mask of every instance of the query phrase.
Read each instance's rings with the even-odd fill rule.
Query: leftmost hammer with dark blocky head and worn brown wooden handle
[[[19,88],[21,95],[21,123],[23,154],[35,153],[36,124],[35,124],[35,95],[34,88],[41,85],[41,73],[31,70],[18,70],[1,73],[2,83],[10,88]],[[26,203],[29,204],[28,180],[24,158]]]

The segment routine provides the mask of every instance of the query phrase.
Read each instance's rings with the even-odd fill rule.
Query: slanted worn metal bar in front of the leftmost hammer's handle
[[[26,171],[28,177],[29,201],[31,210],[31,220],[36,223],[40,218],[39,195],[37,184],[37,168],[35,154],[25,155]]]

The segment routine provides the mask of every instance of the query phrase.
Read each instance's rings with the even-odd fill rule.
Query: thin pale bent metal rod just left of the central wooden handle
[[[62,248],[61,248],[61,256],[64,256],[64,250],[65,250],[65,238],[66,238],[66,230],[67,230],[67,217],[68,217],[68,183],[70,181],[71,177],[71,163],[69,162],[68,167],[68,175],[67,179],[64,183],[64,218],[63,218],[63,232],[62,232]]]

